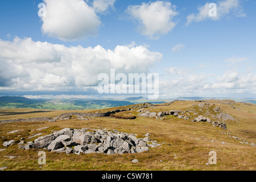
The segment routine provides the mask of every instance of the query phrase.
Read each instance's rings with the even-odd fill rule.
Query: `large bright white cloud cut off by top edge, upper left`
[[[77,40],[97,35],[100,18],[84,0],[44,0],[46,16],[42,31],[61,40]]]

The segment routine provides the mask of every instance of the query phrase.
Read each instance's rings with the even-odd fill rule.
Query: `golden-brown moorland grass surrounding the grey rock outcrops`
[[[246,138],[248,142],[256,143],[256,105],[243,105],[240,102],[234,104],[232,109],[230,105],[218,104],[240,120],[240,123],[230,122],[228,131],[239,138]],[[172,110],[182,109],[192,106],[195,102],[180,101],[174,102],[170,106],[159,106],[152,110]],[[115,107],[107,110],[114,110]],[[9,118],[29,118],[44,117],[61,114],[67,111],[51,111],[46,113],[31,113],[20,115],[5,115],[6,112],[16,111],[35,111],[32,109],[14,109],[1,110],[0,119]],[[86,110],[87,112],[88,110]],[[102,111],[102,110],[95,110]],[[68,111],[69,112],[69,111]],[[85,112],[85,111],[83,111]],[[126,111],[124,114],[137,115],[136,111]],[[48,129],[36,131],[42,127],[49,126]],[[75,154],[66,155],[46,151],[47,164],[40,166],[38,164],[38,151],[40,150],[21,150],[17,144],[8,147],[5,151],[0,152],[0,167],[9,167],[9,170],[255,170],[256,158],[255,147],[239,143],[238,140],[230,138],[221,132],[219,127],[213,127],[210,123],[191,122],[175,117],[168,117],[163,120],[154,118],[137,117],[133,120],[117,118],[94,118],[89,121],[69,120],[57,122],[24,122],[24,123],[7,123],[0,124],[0,143],[5,140],[14,139],[18,141],[21,137],[27,138],[32,134],[51,133],[51,130],[60,130],[65,127],[81,129],[83,127],[116,129],[126,133],[138,134],[143,137],[144,134],[150,133],[151,139],[158,140],[158,143],[164,142],[162,147],[153,148],[148,152],[140,154],[124,155],[105,155],[105,154]],[[6,134],[13,130],[23,130],[15,134]],[[1,138],[5,136],[4,138]],[[32,138],[30,140],[34,140]],[[214,140],[215,142],[211,142]],[[29,141],[29,140],[27,140]],[[226,144],[221,144],[224,141]],[[18,143],[18,142],[17,142]],[[0,149],[5,148],[0,144]],[[217,165],[207,166],[209,151],[217,152]],[[175,154],[177,156],[175,156]],[[4,156],[19,156],[15,159],[5,158]],[[139,163],[131,163],[131,160],[138,159]],[[162,160],[162,162],[160,162]]]

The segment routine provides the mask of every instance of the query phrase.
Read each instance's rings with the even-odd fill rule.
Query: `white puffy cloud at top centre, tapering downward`
[[[172,31],[176,26],[172,19],[178,14],[171,2],[163,1],[129,6],[127,13],[139,21],[139,32],[150,39],[159,39],[160,35]]]

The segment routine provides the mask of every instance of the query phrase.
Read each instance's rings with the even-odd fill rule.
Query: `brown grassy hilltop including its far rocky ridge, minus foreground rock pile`
[[[194,100],[166,104],[133,104],[86,111],[0,111],[1,121],[18,119],[15,122],[0,123],[0,167],[8,167],[10,170],[256,169],[254,104],[232,100]],[[46,119],[34,121],[31,118]],[[143,139],[147,135],[160,146],[134,154],[114,155],[100,152],[67,155],[65,152],[44,150],[47,163],[39,165],[38,151],[42,148],[30,147],[30,142],[35,143],[39,137],[66,128],[75,131],[86,129],[83,131],[90,134],[101,130],[109,134],[118,132],[127,136],[135,135],[138,139]],[[13,142],[10,142],[11,140]],[[10,142],[10,146],[3,146],[5,142]],[[19,148],[26,144],[28,150]],[[210,151],[217,153],[216,165],[209,165]],[[9,159],[5,156],[15,158]],[[138,159],[139,163],[132,163],[133,159]]]

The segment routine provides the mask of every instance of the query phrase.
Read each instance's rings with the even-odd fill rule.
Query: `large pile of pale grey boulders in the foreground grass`
[[[19,148],[47,148],[49,151],[75,153],[125,154],[148,151],[149,147],[161,144],[151,141],[148,137],[137,138],[134,134],[119,133],[117,130],[101,129],[63,129],[52,134],[39,137],[34,142],[20,145]]]

